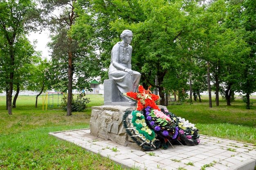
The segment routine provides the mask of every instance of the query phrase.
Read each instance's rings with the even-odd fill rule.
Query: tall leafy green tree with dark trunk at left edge
[[[13,91],[14,72],[19,49],[19,43],[25,33],[25,22],[29,20],[27,13],[34,9],[36,4],[31,0],[0,0],[0,41],[1,43],[1,64],[7,94],[7,110],[12,115],[11,100]]]

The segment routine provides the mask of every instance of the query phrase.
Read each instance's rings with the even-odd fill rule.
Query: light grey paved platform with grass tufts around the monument
[[[90,152],[108,157],[123,168],[140,170],[255,170],[256,146],[200,135],[197,146],[169,146],[140,151],[90,135],[90,129],[51,132]]]

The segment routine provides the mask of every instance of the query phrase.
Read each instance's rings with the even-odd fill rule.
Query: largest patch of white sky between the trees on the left
[[[48,42],[50,42],[49,33],[47,31],[43,32],[31,32],[28,36],[29,41],[33,44],[34,40],[37,40],[36,51],[42,51],[42,58],[47,58],[50,60],[50,56],[48,53],[49,48],[46,46]]]

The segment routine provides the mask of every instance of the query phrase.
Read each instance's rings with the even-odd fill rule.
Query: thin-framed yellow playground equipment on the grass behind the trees
[[[45,98],[44,98],[45,95]],[[61,98],[60,98],[61,97]],[[43,108],[42,110],[47,110],[47,102],[48,102],[48,107],[53,108],[54,103],[57,102],[57,106],[61,107],[61,101],[63,98],[63,92],[47,92],[43,93]]]

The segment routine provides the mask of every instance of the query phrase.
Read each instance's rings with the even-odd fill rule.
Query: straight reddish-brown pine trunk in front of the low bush
[[[72,38],[69,38],[70,45]],[[72,115],[72,80],[73,80],[73,63],[72,50],[68,53],[68,94],[67,94],[67,116]]]

